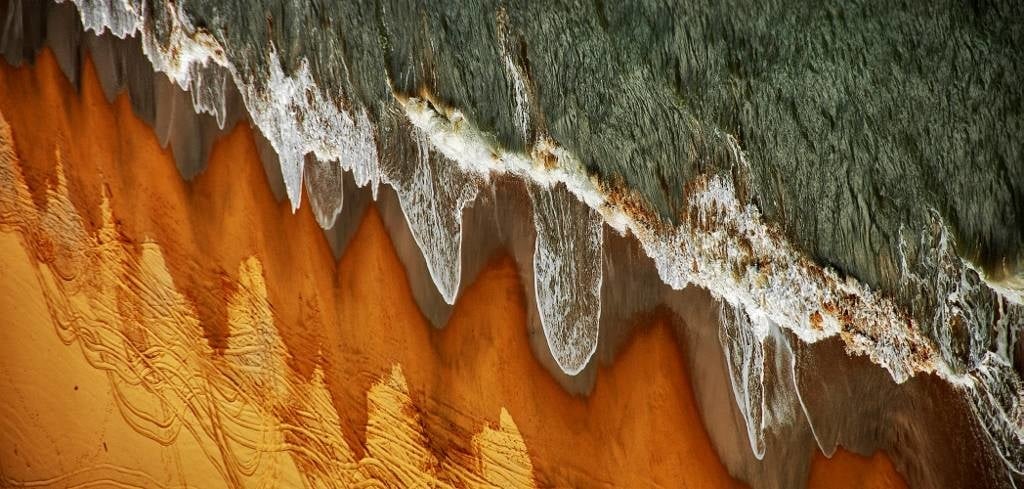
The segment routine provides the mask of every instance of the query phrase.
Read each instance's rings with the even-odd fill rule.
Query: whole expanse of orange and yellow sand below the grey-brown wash
[[[95,331],[111,332],[104,328],[114,324],[110,341],[137,348],[143,358],[150,354],[147,347],[152,350],[159,344],[163,350],[153,355],[180,359],[174,368],[195,373],[189,382],[196,386],[215,394],[234,389],[231,392],[244,399],[216,394],[209,402],[197,404],[195,396],[168,387],[176,386],[171,381],[143,375],[139,384],[122,388],[115,379],[123,372],[105,370],[114,387],[106,387],[100,398],[136,393],[118,399],[120,414],[110,408],[88,409],[85,404],[80,408],[78,401],[72,401],[75,398],[69,398],[61,409],[66,416],[71,412],[74,416],[30,415],[15,421],[28,424],[38,436],[30,436],[27,428],[0,424],[0,432],[15,433],[17,439],[38,444],[37,455],[59,452],[62,440],[82,438],[74,434],[79,432],[69,435],[65,430],[88,433],[96,424],[119,425],[112,420],[119,415],[131,419],[135,414],[130,409],[126,414],[124,406],[171,405],[167,409],[174,412],[175,403],[180,403],[187,412],[178,415],[173,426],[203,429],[196,430],[197,441],[178,448],[174,463],[181,474],[181,466],[191,466],[189,483],[202,486],[214,481],[240,484],[249,480],[244,477],[255,477],[247,471],[232,472],[233,465],[225,461],[236,456],[242,442],[224,433],[240,434],[246,450],[259,452],[260,448],[254,448],[258,445],[264,451],[276,447],[273,450],[289,453],[290,461],[273,458],[273,466],[283,468],[271,479],[279,482],[299,477],[325,484],[317,477],[336,474],[328,469],[337,469],[351,477],[346,480],[352,484],[377,479],[399,486],[416,481],[737,485],[718,460],[697,415],[682,352],[667,318],[655,318],[638,329],[613,366],[598,373],[592,395],[567,395],[530,352],[522,290],[507,256],[495,257],[460,298],[447,326],[433,329],[413,301],[404,270],[373,208],[336,263],[309,207],[292,215],[286,203],[274,202],[248,127],[241,125],[218,141],[208,169],[186,183],[178,176],[170,152],[159,147],[153,131],[131,113],[125,95],[109,104],[89,62],[82,80],[76,93],[49,51],[32,68],[4,65],[0,72],[0,113],[10,126],[32,208],[41,214],[63,209],[66,217],[82,216],[82,231],[69,237],[65,235],[67,223],[54,225],[59,233],[37,232],[31,226],[12,224],[10,216],[0,213],[0,236],[6,236],[0,258],[0,273],[5,275],[0,280],[0,297],[7,302],[23,295],[35,298],[0,321],[23,324],[23,329],[40,338],[54,330],[77,335],[72,340],[61,337],[63,345],[40,347],[39,355],[24,358],[22,365],[36,365],[35,373],[18,370],[9,375],[23,379],[22,389],[44,384],[39,375],[65,368],[68,375],[92,375],[88,385],[103,394],[103,376],[80,372],[85,364],[75,364],[71,357],[54,364],[50,372],[45,365],[57,347],[65,348],[58,353],[68,356],[67,350],[74,351],[69,347],[80,345],[91,368],[105,368],[102,362],[92,361],[95,358],[90,355],[97,354],[86,347],[94,345],[82,339]],[[63,190],[54,191],[61,188],[57,182],[60,169],[67,183]],[[52,204],[54,198],[59,201],[54,195],[66,196],[67,209]],[[15,234],[19,240],[10,237]],[[8,253],[18,242],[27,253]],[[61,250],[74,247],[95,250],[89,254],[92,258],[81,259],[88,266],[65,265]],[[74,284],[82,279],[61,273],[63,268],[79,267],[102,275],[108,267],[117,268],[112,260],[129,264],[111,280],[96,278],[117,291],[113,295],[105,295],[104,286],[79,291],[60,284],[60,280]],[[69,259],[68,263],[78,262]],[[26,277],[32,270],[37,277]],[[17,279],[7,279],[7,275]],[[119,280],[128,285],[118,285]],[[50,297],[54,295],[66,297]],[[173,314],[160,305],[169,298],[175,298]],[[54,313],[65,309],[88,320],[76,322],[71,319],[74,315]],[[179,328],[180,324],[166,318],[151,317],[162,314],[195,328]],[[165,338],[159,328],[177,332]],[[51,343],[57,335],[53,337]],[[265,345],[257,348],[246,343],[250,337]],[[193,341],[181,341],[187,339]],[[20,341],[5,341],[2,354],[13,354]],[[96,358],[106,359],[114,353],[105,355]],[[63,383],[54,386],[58,384],[62,389]],[[163,404],[141,400],[157,392],[169,393],[160,397]],[[4,394],[8,393],[0,392],[0,404],[17,397]],[[236,416],[226,405],[253,413]],[[203,406],[217,406],[230,414],[217,409],[211,414]],[[22,409],[2,408],[0,412]],[[209,419],[223,416],[231,423]],[[119,433],[114,440],[133,445],[120,450],[136,452],[131,456],[141,459],[147,450],[160,449],[153,440],[161,437],[152,433],[133,436],[123,423],[119,426],[111,429]],[[138,424],[129,426],[137,428]],[[255,444],[249,438],[253,433],[274,442]],[[44,435],[49,439],[44,440]],[[76,443],[81,444],[81,439]],[[69,449],[79,455],[59,462],[0,452],[0,475],[15,478],[10,460],[20,463],[22,458],[35,468],[19,468],[23,479],[113,463],[106,458],[109,444],[98,440],[91,449]],[[528,458],[522,457],[522,450]],[[204,457],[208,465],[183,461]],[[332,458],[351,463],[332,465]],[[131,460],[119,463],[131,465]],[[196,466],[210,469],[206,476],[196,476]],[[531,476],[522,479],[523,471]],[[882,454],[862,459],[841,451],[830,460],[819,457],[811,476],[813,487],[901,485]],[[183,478],[171,474],[161,480],[176,484]]]

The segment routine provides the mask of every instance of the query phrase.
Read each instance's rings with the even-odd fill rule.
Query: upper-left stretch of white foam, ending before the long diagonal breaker
[[[165,43],[159,43],[143,29],[147,12],[141,8],[150,3],[72,1],[85,29],[97,34],[108,31],[121,39],[140,36],[142,52],[154,70],[189,90],[196,110],[213,115],[221,127],[226,118],[223,91],[226,78],[222,74],[229,74],[250,119],[278,153],[293,210],[300,204],[307,153],[321,161],[339,162],[352,172],[356,183],[371,184],[376,189],[380,171],[367,114],[358,112],[352,116],[338,107],[316,87],[305,59],[296,73],[287,75],[276,50],[270,46],[266,53],[269,73],[263,81],[265,88],[257,89],[226,58],[223,46],[210,33],[196,29],[177,3],[165,3],[169,6],[171,32]]]

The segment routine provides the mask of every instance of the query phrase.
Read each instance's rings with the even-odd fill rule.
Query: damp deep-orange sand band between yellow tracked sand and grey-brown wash
[[[287,364],[298,379],[305,381],[315,376],[317,367],[323,369],[324,382],[334,397],[339,418],[349,420],[341,423],[343,431],[345,426],[349,427],[345,433],[349,446],[359,447],[365,443],[365,436],[359,435],[359,427],[367,425],[366,421],[360,423],[360,412],[367,412],[362,399],[366,392],[373,388],[373,383],[380,379],[373,372],[385,374],[390,364],[398,363],[408,380],[411,396],[414,399],[422,397],[421,402],[427,403],[423,417],[425,430],[428,438],[439,440],[442,450],[447,447],[454,452],[471,451],[466,448],[466,437],[444,435],[452,423],[459,427],[459,434],[471,433],[473,427],[478,430],[483,425],[500,426],[499,413],[507,409],[522,433],[537,471],[536,480],[542,485],[571,483],[573,480],[581,482],[581,479],[574,478],[583,477],[585,473],[603,473],[609,479],[597,477],[596,480],[610,480],[614,474],[603,471],[615,466],[615,463],[593,455],[604,453],[614,460],[614,456],[631,453],[629,449],[605,449],[602,441],[616,439],[615,434],[627,436],[627,440],[633,440],[632,443],[649,450],[648,456],[654,457],[647,459],[652,472],[651,480],[658,479],[658,468],[664,471],[660,473],[662,481],[669,483],[678,480],[673,479],[675,477],[701,472],[694,472],[694,469],[716,466],[708,471],[708,477],[728,480],[696,415],[685,362],[666,319],[660,318],[654,321],[655,325],[642,326],[631,334],[613,364],[598,368],[597,384],[590,396],[571,396],[548,374],[529,348],[522,287],[516,267],[507,255],[489,260],[489,265],[467,288],[467,298],[457,303],[449,325],[441,330],[434,329],[413,300],[408,281],[396,278],[404,277],[406,271],[390,249],[390,239],[373,206],[361,219],[359,229],[341,260],[335,262],[309,207],[300,208],[298,214],[293,216],[287,203],[276,203],[272,198],[252,136],[244,125],[218,140],[207,170],[194,182],[185,183],[177,175],[169,151],[160,149],[152,130],[132,116],[125,95],[120,95],[114,106],[103,108],[105,99],[94,75],[89,75],[91,63],[86,62],[86,66],[80,95],[69,95],[67,88],[52,87],[52,82],[62,78],[62,75],[51,54],[40,55],[33,69],[17,69],[35,74],[28,77],[26,83],[38,83],[36,86],[42,87],[43,93],[50,97],[49,108],[60,108],[55,105],[65,104],[62,109],[50,114],[55,119],[53,122],[60,122],[61,113],[65,116],[68,113],[88,116],[86,121],[47,125],[58,134],[63,134],[63,138],[72,138],[61,141],[61,158],[67,162],[63,171],[68,174],[69,197],[83,216],[86,232],[99,233],[102,229],[100,209],[103,195],[109,194],[118,235],[124,238],[123,247],[126,250],[141,250],[146,243],[160,247],[174,287],[182,291],[193,303],[198,323],[202,325],[214,355],[227,349],[230,341],[227,334],[230,327],[226,324],[230,322],[227,314],[229,305],[225,302],[232,297],[230,293],[240,290],[242,276],[236,270],[240,270],[249,257],[257,257],[265,276],[266,299],[273,311],[274,323],[284,348],[290,352]],[[7,84],[17,78],[17,70],[9,66],[4,70],[15,72],[14,77],[4,75],[4,93],[34,93],[11,89]],[[39,83],[47,77],[50,83]],[[26,122],[31,117],[38,117],[38,112],[35,116],[30,113],[38,110],[42,104],[30,104],[23,109],[24,113],[11,115],[16,112],[11,110],[14,105],[10,100],[3,101],[4,118],[11,122],[18,154],[27,154],[29,164],[26,167],[34,168],[27,172],[35,174],[28,180],[36,182],[30,184],[30,188],[34,190],[35,199],[40,201],[40,196],[45,196],[46,189],[52,185],[53,175],[47,175],[47,171],[55,167],[47,165],[54,163],[47,154],[53,154],[53,148],[45,147],[42,141],[37,144],[32,142],[36,142],[36,138],[45,141],[52,136],[26,134],[24,129],[18,129],[28,127]],[[20,122],[16,121],[18,118]],[[117,128],[113,132],[120,135],[106,134],[104,137],[104,129],[112,127]],[[91,133],[86,137],[74,137],[75,132],[82,128],[88,128]],[[79,148],[81,143],[88,147]],[[102,163],[104,154],[111,159],[114,152],[111,148],[118,148],[122,160]],[[99,168],[95,173],[71,170],[75,165],[97,163]],[[174,178],[169,179],[171,176]],[[234,218],[222,219],[225,216]],[[239,216],[246,218],[238,219]],[[225,225],[228,223],[233,225]],[[296,239],[296,235],[301,237]],[[290,239],[281,239],[281,236],[289,236]],[[301,247],[289,246],[296,243],[301,243]],[[309,250],[308,247],[313,248]],[[326,264],[334,264],[336,268],[325,267]],[[402,282],[406,284],[401,285]],[[211,285],[219,286],[210,288]],[[188,297],[190,288],[223,291],[225,294],[223,298],[204,296],[202,293]],[[475,295],[480,298],[469,299]],[[388,299],[382,301],[382,296]],[[368,301],[374,301],[376,307],[366,307]],[[360,307],[360,304],[364,306]],[[389,307],[381,307],[382,304]],[[375,321],[381,323],[375,325],[382,329],[367,324]],[[344,324],[360,323],[369,329],[343,327]],[[494,325],[481,328],[481,323]],[[310,330],[308,324],[321,324],[319,330]],[[385,327],[387,325],[400,329]],[[360,341],[370,342],[370,345],[352,346]],[[481,349],[479,344],[489,345],[490,348]],[[328,348],[325,349],[325,346]],[[398,358],[399,355],[403,358]],[[355,362],[348,359],[358,359],[362,363],[354,365]],[[368,367],[367,361],[376,367]],[[445,368],[456,368],[456,371]],[[362,369],[369,370],[370,374]],[[507,376],[496,371],[519,373],[513,380],[518,382],[509,382]],[[651,371],[666,376],[655,376],[652,382]],[[473,380],[473,375],[467,372],[477,373],[475,385],[465,385]],[[493,376],[481,376],[487,373]],[[358,382],[349,385],[346,381],[350,380]],[[523,385],[539,394],[522,394]],[[643,392],[638,391],[640,389]],[[490,394],[474,397],[477,390]],[[445,413],[444,406],[453,400],[431,397],[440,393],[460,400],[463,404],[461,409],[470,413]],[[641,419],[623,419],[623,412],[635,412],[635,409],[631,410],[629,402],[620,399],[620,395],[625,395],[626,399],[643,399],[643,402],[660,399],[654,404],[664,405],[664,412],[649,413],[649,417]],[[437,403],[436,406],[431,404],[433,402]],[[550,402],[553,406],[538,405],[538,402]],[[608,404],[612,407],[609,408]],[[561,435],[549,433],[552,431],[552,414],[560,414],[555,418],[570,428]],[[456,419],[462,416],[467,416],[472,423],[460,425]],[[574,429],[571,428],[573,421],[577,423]],[[635,425],[622,428],[621,424],[626,421]],[[666,462],[668,466],[660,466],[655,460],[665,458],[664,450],[641,441],[659,439],[658,433],[667,425],[688,427],[670,432],[689,433],[692,446],[687,451],[673,445],[673,442],[679,443],[678,439],[666,440],[670,448],[675,446],[677,450],[687,452],[688,456],[677,457],[674,462]],[[644,430],[654,431],[645,433]],[[592,434],[591,441],[587,443],[590,450],[580,449],[580,440],[568,436],[573,433]],[[546,435],[560,443],[545,441]],[[358,456],[358,449],[354,451]],[[590,453],[583,453],[588,451]],[[702,462],[693,460],[696,454]],[[582,459],[575,463],[563,463],[564,460],[559,458],[573,456]],[[816,466],[818,463],[827,464],[820,458],[816,458]],[[857,456],[853,459],[859,460]],[[849,459],[840,461],[848,462]],[[872,462],[874,465],[877,463]],[[567,469],[555,469],[559,466]],[[636,468],[637,473],[645,472],[641,469],[642,463],[631,463],[630,466]],[[889,468],[891,470],[891,465]]]

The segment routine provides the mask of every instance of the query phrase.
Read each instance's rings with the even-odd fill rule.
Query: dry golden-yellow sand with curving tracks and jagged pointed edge
[[[68,196],[59,154],[56,181],[37,210],[2,120],[0,147],[0,230],[10,257],[5,262],[32,265],[31,273],[14,275],[34,276],[37,283],[25,285],[41,296],[46,311],[33,313],[48,315],[53,340],[71,347],[57,348],[63,371],[81,375],[82,388],[109,392],[127,428],[167,447],[163,455],[178,470],[160,474],[102,463],[30,480],[19,479],[12,463],[5,468],[5,485],[207,486],[214,474],[233,487],[534,485],[526,446],[504,409],[498,426],[484,425],[473,435],[468,457],[438,459],[397,364],[367,393],[366,453],[356,457],[341,433],[323,370],[305,380],[287,364],[258,259],[249,257],[239,267],[227,304],[226,345],[215,352],[197,312],[175,288],[159,244],[126,240],[106,195],[98,232],[87,231]],[[20,250],[35,256],[16,260]],[[82,372],[82,360],[99,374]],[[117,428],[122,432],[102,434],[104,447],[139,443],[125,427]],[[169,460],[131,461],[159,469]]]

